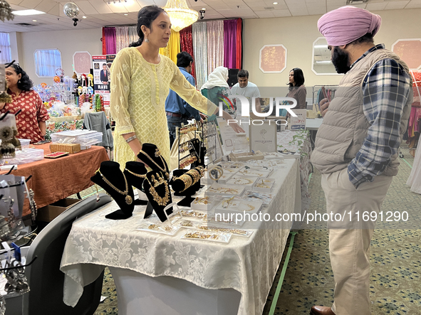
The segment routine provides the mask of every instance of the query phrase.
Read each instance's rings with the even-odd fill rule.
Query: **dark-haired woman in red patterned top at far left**
[[[18,139],[30,139],[31,143],[44,140],[46,120],[50,119],[41,97],[31,90],[33,82],[26,72],[16,63],[6,68],[7,92],[11,95],[11,103],[0,103],[0,112],[16,114]]]

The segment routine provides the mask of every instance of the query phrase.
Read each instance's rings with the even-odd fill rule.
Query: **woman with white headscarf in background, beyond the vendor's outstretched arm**
[[[217,67],[215,70],[209,75],[209,78],[204,85],[202,85],[202,88],[200,89],[200,92],[202,92],[202,95],[207,97],[209,101],[211,101],[214,104],[219,104],[224,97],[229,96],[229,85],[227,83],[228,80],[228,68],[225,67]],[[227,111],[229,114],[234,114],[234,111],[232,108],[229,108],[225,102],[224,104],[224,110]]]

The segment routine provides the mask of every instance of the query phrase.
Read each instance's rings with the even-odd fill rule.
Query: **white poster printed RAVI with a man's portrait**
[[[103,95],[104,106],[110,106],[110,68],[115,55],[93,55],[93,90]]]

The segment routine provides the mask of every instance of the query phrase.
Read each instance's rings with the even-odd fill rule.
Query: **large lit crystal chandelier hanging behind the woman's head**
[[[199,17],[197,11],[189,9],[186,0],[168,0],[162,9],[170,16],[171,28],[176,32],[192,25]]]

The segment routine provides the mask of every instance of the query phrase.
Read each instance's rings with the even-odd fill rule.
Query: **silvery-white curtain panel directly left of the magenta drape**
[[[207,22],[207,73],[224,65],[224,21]]]

